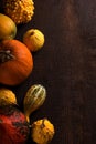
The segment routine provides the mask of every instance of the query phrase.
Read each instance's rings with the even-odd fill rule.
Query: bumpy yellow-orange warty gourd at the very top
[[[29,22],[34,14],[32,0],[3,0],[4,13],[17,24]]]

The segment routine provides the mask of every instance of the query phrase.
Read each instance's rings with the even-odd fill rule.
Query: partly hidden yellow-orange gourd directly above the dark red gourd
[[[0,89],[0,107],[4,105],[18,105],[15,94],[6,88]]]

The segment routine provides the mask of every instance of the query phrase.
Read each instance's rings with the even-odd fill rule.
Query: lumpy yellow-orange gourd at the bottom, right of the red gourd
[[[54,133],[54,125],[47,119],[38,120],[32,124],[31,137],[36,144],[47,144]]]

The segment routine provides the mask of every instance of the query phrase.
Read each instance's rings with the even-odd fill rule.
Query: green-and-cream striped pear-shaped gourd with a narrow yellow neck
[[[24,114],[28,122],[30,122],[30,114],[44,103],[45,97],[46,90],[41,84],[34,84],[28,90],[23,101]]]

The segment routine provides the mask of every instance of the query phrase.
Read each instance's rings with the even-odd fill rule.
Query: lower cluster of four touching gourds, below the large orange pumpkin
[[[15,94],[9,89],[0,89],[0,144],[24,144],[29,136],[38,144],[46,144],[53,138],[54,126],[47,119],[30,122],[30,115],[44,103],[45,97],[43,85],[32,85],[24,96],[21,112]]]

